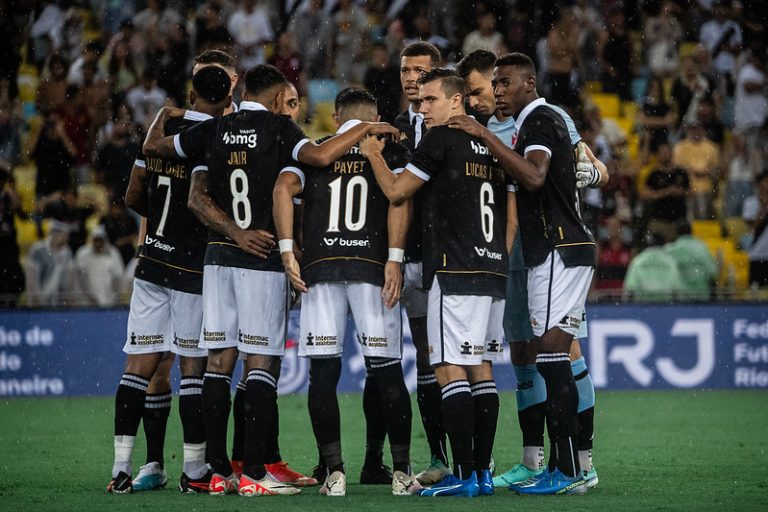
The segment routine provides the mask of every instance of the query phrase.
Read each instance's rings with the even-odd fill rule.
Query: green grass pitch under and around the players
[[[502,490],[467,499],[394,497],[387,486],[355,484],[364,451],[361,396],[340,397],[349,483],[345,498],[317,488],[295,497],[181,495],[181,427],[176,411],[166,439],[168,489],[112,496],[111,398],[5,399],[0,402],[0,511],[768,511],[768,393],[640,391],[598,393],[595,464],[600,484],[586,496],[521,497]],[[494,457],[499,469],[518,462],[520,434],[513,393],[501,395]],[[417,408],[414,404],[414,412]],[[280,398],[283,457],[311,471],[316,451],[306,397]],[[412,458],[427,462],[414,416]],[[141,438],[142,434],[140,434]],[[143,441],[134,472],[144,461]]]

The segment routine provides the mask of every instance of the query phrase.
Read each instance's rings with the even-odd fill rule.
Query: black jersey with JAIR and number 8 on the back
[[[174,139],[177,153],[195,162],[193,172],[208,173],[211,198],[229,218],[243,229],[272,234],[272,189],[280,171],[295,162],[306,142],[309,139],[290,118],[249,101],[242,102],[237,112],[200,123]],[[213,232],[205,264],[283,270],[277,246],[265,260]]]

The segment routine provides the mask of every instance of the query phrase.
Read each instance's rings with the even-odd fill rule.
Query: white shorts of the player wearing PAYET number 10
[[[301,301],[299,355],[340,356],[350,311],[363,356],[402,358],[400,305],[389,309],[381,297],[381,286],[360,281],[317,283],[309,287]]]

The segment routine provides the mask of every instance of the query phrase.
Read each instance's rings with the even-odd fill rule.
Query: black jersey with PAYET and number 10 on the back
[[[397,171],[408,163],[410,152],[402,144],[387,143],[383,156]],[[323,281],[383,286],[389,201],[368,160],[354,146],[328,167],[302,169],[304,281],[308,286]]]

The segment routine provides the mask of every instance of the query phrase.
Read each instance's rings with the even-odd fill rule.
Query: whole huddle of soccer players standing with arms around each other
[[[431,44],[410,44],[400,74],[409,107],[394,126],[379,122],[374,96],[349,88],[336,97],[336,134],[313,142],[295,124],[296,90],[276,68],[248,70],[235,105],[232,57],[213,50],[195,59],[190,109],[159,112],[126,193],[146,221],[108,491],[167,484],[175,354],[182,492],[292,495],[320,484],[321,494],[344,496],[336,386],[349,313],[366,368],[360,483],[391,485],[393,495],[469,497],[597,485],[594,389],[577,341],[586,336],[595,244],[577,188],[605,184],[605,166],[568,114],[538,97],[529,57],[478,50],[456,71],[439,62]],[[291,469],[278,443],[280,362],[299,298],[318,448],[312,476]],[[431,455],[419,473],[401,307]],[[523,455],[494,478],[493,363],[507,352]],[[142,422],[147,464],[134,478]]]

